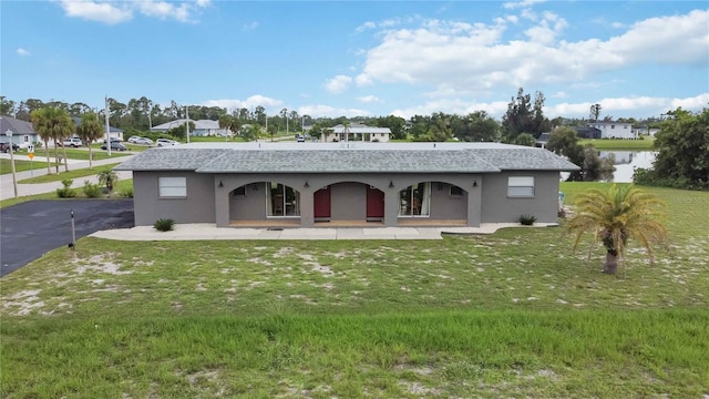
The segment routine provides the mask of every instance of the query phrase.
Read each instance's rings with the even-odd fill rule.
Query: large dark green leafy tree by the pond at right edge
[[[654,174],[682,187],[709,187],[709,109],[667,114],[655,139]]]

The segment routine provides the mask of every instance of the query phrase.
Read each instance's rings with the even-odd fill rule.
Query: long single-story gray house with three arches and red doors
[[[192,143],[151,149],[133,171],[136,226],[480,226],[554,223],[554,153],[500,143]]]

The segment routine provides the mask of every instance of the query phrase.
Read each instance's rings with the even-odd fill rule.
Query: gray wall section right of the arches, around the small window
[[[533,197],[508,197],[507,177],[533,176]],[[503,172],[485,175],[482,194],[483,223],[517,223],[522,215],[536,216],[537,222],[558,219],[558,172]]]

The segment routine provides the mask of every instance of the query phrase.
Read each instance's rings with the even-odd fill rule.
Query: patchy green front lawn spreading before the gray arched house
[[[626,279],[561,228],[83,238],[0,280],[0,396],[706,398],[709,193],[648,191],[674,249]]]

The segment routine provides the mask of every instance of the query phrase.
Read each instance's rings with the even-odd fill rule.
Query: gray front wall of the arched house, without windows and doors
[[[278,182],[300,193],[300,226],[315,225],[312,194],[331,185],[332,219],[364,221],[367,186],[384,193],[384,225],[399,223],[399,191],[420,182],[431,183],[430,219],[466,219],[469,226],[480,223],[516,223],[523,214],[538,222],[556,222],[558,172],[505,172],[495,174],[197,174],[194,172],[134,172],[135,224],[152,225],[169,217],[177,223],[216,223],[227,227],[230,221],[263,221],[266,216],[266,192],[263,182]],[[187,177],[187,198],[158,198],[158,176]],[[535,195],[508,198],[508,176],[534,176]],[[222,183],[223,187],[219,187]],[[254,184],[256,183],[256,184]],[[441,191],[439,191],[441,183]],[[476,184],[473,184],[476,183]],[[249,184],[245,197],[234,197],[235,188]],[[450,196],[450,185],[463,190],[462,197]],[[390,185],[393,185],[390,187]],[[258,190],[254,190],[257,187]]]

